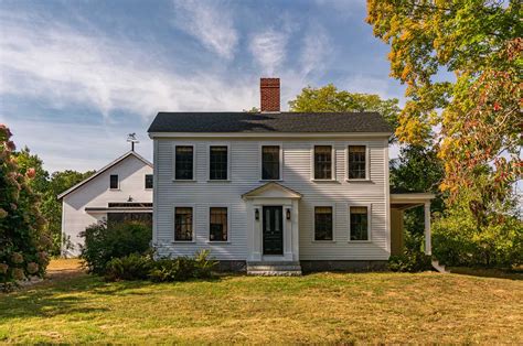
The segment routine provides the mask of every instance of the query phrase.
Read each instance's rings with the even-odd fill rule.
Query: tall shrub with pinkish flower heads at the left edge
[[[0,284],[3,289],[9,282],[43,275],[51,246],[39,195],[31,187],[35,170],[19,166],[10,138],[9,129],[0,125]]]

